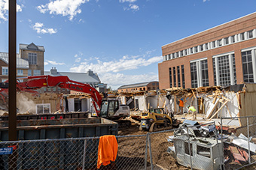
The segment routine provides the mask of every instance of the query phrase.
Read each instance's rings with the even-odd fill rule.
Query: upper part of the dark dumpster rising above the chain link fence
[[[17,121],[17,140],[117,135],[118,124],[105,118]],[[0,121],[0,140],[8,141],[8,121]]]

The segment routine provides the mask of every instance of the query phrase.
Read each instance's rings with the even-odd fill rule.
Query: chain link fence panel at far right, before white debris
[[[224,121],[238,121],[235,131],[224,126]],[[221,144],[223,145],[224,169],[242,169],[256,163],[256,116],[221,118]]]

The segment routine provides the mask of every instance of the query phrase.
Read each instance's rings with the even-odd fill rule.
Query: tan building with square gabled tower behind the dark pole
[[[1,82],[8,79],[8,58],[8,52],[0,52]],[[44,46],[36,46],[35,43],[20,43],[20,53],[17,54],[17,78],[43,74]]]

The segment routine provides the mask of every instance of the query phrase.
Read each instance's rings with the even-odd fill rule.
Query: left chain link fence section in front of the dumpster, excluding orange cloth
[[[117,159],[101,169],[145,169],[147,135],[116,138]],[[99,137],[1,142],[0,169],[97,169],[98,145]]]

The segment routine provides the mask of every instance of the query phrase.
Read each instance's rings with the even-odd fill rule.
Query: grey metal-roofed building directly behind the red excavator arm
[[[105,92],[105,88],[107,88],[106,84],[101,83],[99,76],[96,73],[93,73],[92,70],[88,70],[87,73],[73,73],[73,72],[58,72],[56,67],[50,69],[50,71],[44,71],[44,75],[50,76],[68,76],[69,79],[81,82],[85,84],[92,85],[99,92]],[[54,93],[62,93],[62,94],[74,94],[79,93],[78,91],[69,91],[69,89],[65,88],[44,88],[41,92],[54,92]]]

